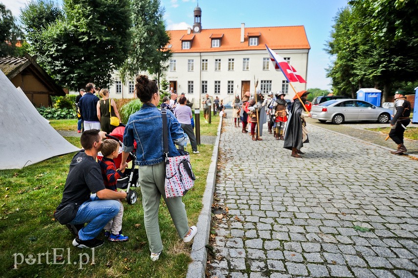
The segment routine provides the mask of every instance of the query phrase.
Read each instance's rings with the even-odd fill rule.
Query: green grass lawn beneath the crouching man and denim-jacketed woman
[[[51,124],[76,129],[76,120],[51,121]],[[213,121],[211,126],[215,125]],[[80,147],[79,138],[66,139]],[[187,151],[191,152],[190,146]],[[197,223],[202,207],[213,146],[200,145],[199,151],[200,154],[191,154],[197,176],[195,186],[183,198],[190,225]],[[127,242],[107,241],[94,251],[94,264],[91,263],[92,250],[72,246],[72,235],[55,221],[53,212],[61,201],[73,155],[47,159],[21,170],[0,171],[0,276],[185,277],[191,261],[191,243],[183,243],[178,238],[164,201],[161,201],[159,213],[164,251],[158,261],[150,260],[140,189],[137,189],[138,201],[135,204],[124,203],[123,233],[130,237]],[[36,258],[35,263],[31,264],[30,256]],[[15,257],[17,269],[14,269]],[[22,262],[24,258],[27,261]]]

